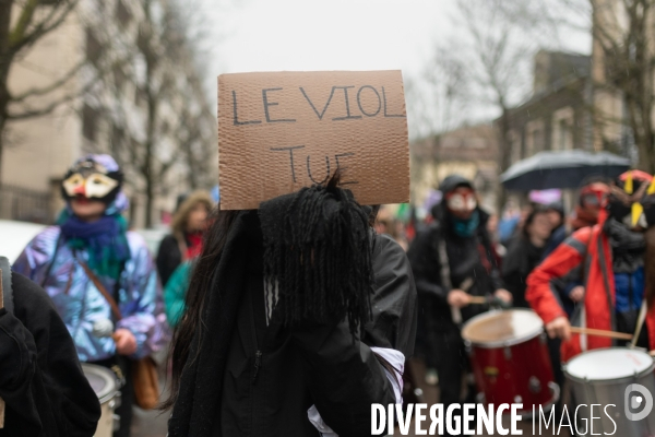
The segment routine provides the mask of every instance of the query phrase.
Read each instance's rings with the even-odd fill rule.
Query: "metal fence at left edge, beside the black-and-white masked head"
[[[0,187],[0,218],[47,224],[51,217],[49,192],[4,184]]]

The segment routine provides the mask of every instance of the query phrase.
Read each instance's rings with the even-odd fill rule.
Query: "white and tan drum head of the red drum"
[[[539,316],[529,309],[509,309],[476,316],[462,329],[462,336],[483,347],[510,346],[537,336],[544,330]]]

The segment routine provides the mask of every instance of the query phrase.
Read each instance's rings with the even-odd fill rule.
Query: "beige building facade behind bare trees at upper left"
[[[12,67],[13,93],[74,74],[53,92],[25,103],[44,107],[66,99],[55,110],[9,125],[0,218],[51,223],[62,208],[60,178],[85,153],[109,153],[121,164],[136,227],[146,223],[148,172],[156,175],[152,225],[172,211],[179,193],[198,185],[209,189],[209,179],[217,180],[212,175],[198,182],[193,174],[191,181],[194,172],[187,155],[196,142],[203,143],[205,160],[217,163],[215,115],[198,85],[202,80],[193,60],[181,59],[184,50],[171,52],[172,43],[162,40],[170,34],[166,20],[175,13],[168,10],[171,4],[83,0]],[[199,120],[193,139],[187,132],[189,118]]]

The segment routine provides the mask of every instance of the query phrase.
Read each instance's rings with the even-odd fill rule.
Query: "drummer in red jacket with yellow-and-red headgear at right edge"
[[[527,279],[526,299],[546,323],[551,338],[563,339],[562,362],[576,354],[609,347],[602,336],[571,334],[571,324],[635,334],[636,345],[655,349],[652,290],[655,259],[655,180],[644,172],[622,174],[603,197],[598,224],[569,237]],[[581,267],[584,305],[569,318],[551,284]],[[654,265],[655,267],[655,265]],[[646,287],[646,283],[651,284]],[[645,323],[644,323],[645,320]]]

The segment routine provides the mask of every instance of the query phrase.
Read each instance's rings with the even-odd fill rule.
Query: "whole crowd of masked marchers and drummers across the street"
[[[612,344],[572,334],[581,319],[655,349],[655,179],[643,172],[585,179],[569,214],[512,203],[500,220],[451,175],[428,220],[407,224],[359,205],[338,174],[259,210],[219,211],[196,191],[156,257],[123,218],[122,184],[108,155],[75,162],[57,224],[11,267],[0,435],[93,435],[84,363],[119,381],[114,435],[129,436],[136,366],[169,343],[171,437],[368,435],[372,403],[402,402],[412,356],[444,409],[475,402],[462,327],[491,307],[543,319],[560,386],[562,362]]]

